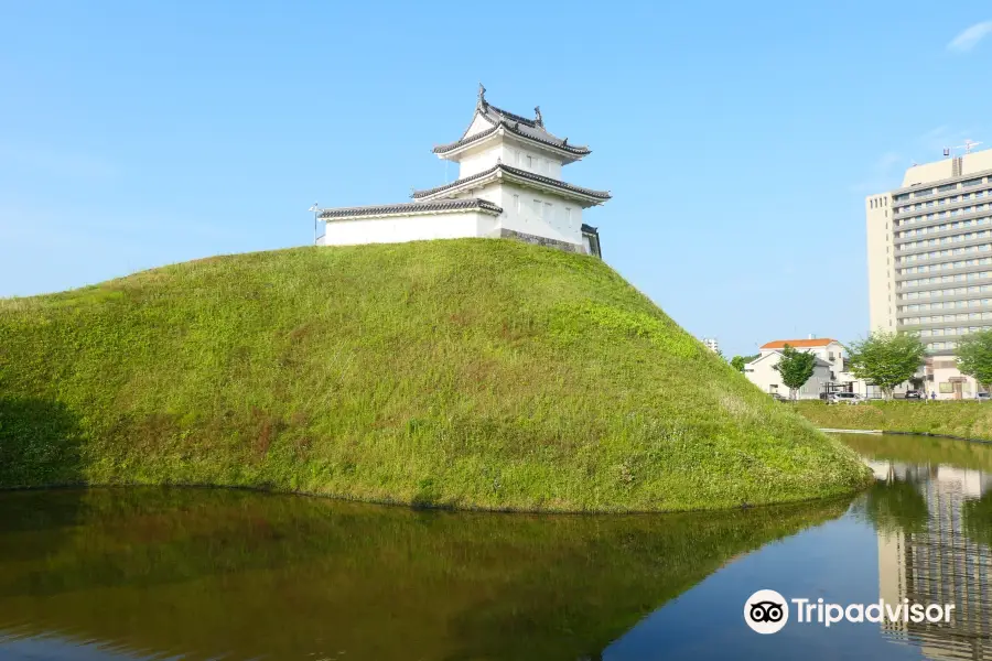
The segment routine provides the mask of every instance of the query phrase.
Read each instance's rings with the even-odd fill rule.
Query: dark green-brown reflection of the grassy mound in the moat
[[[573,661],[845,507],[539,517],[244,491],[6,494],[0,633],[186,659]]]

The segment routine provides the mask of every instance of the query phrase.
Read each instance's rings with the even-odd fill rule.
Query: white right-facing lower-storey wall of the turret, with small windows
[[[496,199],[493,202],[503,207],[503,215],[499,216],[502,227],[558,241],[582,245],[582,207],[574,202],[515,184],[499,184],[496,188],[494,194],[498,195],[499,202]],[[517,209],[514,195],[519,196],[519,209]],[[536,199],[541,204],[540,214],[535,208],[533,201]],[[550,204],[551,207],[547,207],[547,204]],[[572,210],[571,224],[565,218],[564,209],[567,208]]]

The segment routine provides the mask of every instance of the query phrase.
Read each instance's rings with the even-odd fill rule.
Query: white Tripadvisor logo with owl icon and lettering
[[[903,599],[895,604],[878,599],[874,604],[827,604],[823,599],[786,599],[774,589],[759,589],[744,602],[744,621],[758,633],[777,633],[789,621],[791,603],[796,624],[830,627],[838,622],[914,622],[947,624],[955,604],[910,604]]]

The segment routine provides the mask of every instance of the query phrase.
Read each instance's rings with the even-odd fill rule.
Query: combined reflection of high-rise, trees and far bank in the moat
[[[992,659],[992,474],[978,468],[992,455],[959,442],[902,442],[903,453],[886,447],[887,440],[859,443],[878,479],[856,506],[877,530],[878,593],[888,603],[955,604],[956,610],[947,625],[886,624],[885,633],[930,659]],[[964,466],[941,463],[948,447],[969,455]]]

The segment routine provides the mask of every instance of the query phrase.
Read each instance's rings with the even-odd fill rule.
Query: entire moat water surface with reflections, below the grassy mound
[[[992,446],[847,436],[853,499],[710,514],[414,511],[207,489],[0,494],[0,659],[992,659]],[[953,604],[792,619],[752,593]]]

